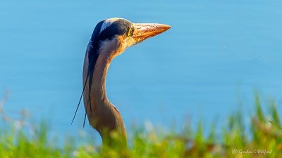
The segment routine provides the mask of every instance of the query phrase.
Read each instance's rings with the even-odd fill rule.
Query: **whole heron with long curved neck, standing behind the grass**
[[[75,114],[82,100],[90,125],[102,137],[102,144],[113,140],[111,132],[118,133],[126,144],[123,118],[106,96],[106,74],[111,61],[126,48],[161,34],[169,25],[158,23],[133,23],[124,18],[109,18],[97,23],[87,45],[82,72],[82,93]],[[75,118],[75,114],[73,119]],[[73,123],[73,121],[72,121]]]

